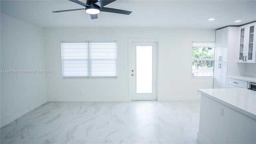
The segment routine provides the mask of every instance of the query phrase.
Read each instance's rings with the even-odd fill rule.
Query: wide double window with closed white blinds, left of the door
[[[63,77],[116,77],[117,42],[62,42]]]

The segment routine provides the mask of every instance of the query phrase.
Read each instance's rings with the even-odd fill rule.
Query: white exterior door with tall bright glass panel
[[[132,100],[157,99],[157,42],[132,42]]]

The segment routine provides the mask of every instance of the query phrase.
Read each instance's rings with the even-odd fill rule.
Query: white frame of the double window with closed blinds
[[[88,43],[88,55],[87,55],[87,62],[88,62],[88,76],[64,76],[64,69],[63,69],[63,52],[62,52],[62,43]],[[116,43],[116,50],[115,50],[115,72],[116,72],[116,76],[91,76],[91,60],[90,60],[90,43]],[[103,78],[103,79],[112,79],[112,78],[118,78],[118,72],[117,72],[117,41],[116,40],[112,40],[112,41],[61,41],[60,42],[61,45],[61,62],[62,62],[62,78]]]

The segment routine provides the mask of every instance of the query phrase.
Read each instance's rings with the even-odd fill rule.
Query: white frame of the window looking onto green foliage
[[[194,46],[193,44],[196,43]],[[200,46],[200,44],[202,44]],[[214,57],[213,58],[193,58],[193,48],[214,48],[213,52],[214,52]],[[214,78],[214,64],[215,64],[215,52],[216,52],[216,48],[215,48],[215,42],[192,42],[192,51],[191,51],[191,55],[192,55],[192,60],[191,60],[191,73],[190,76],[191,78]],[[193,74],[193,61],[194,60],[209,60],[209,61],[213,61],[213,68],[212,68],[212,72],[213,75],[212,76],[192,76]]]

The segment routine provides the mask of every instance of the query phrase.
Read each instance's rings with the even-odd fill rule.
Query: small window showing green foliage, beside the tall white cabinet
[[[214,42],[192,42],[192,76],[213,76]]]

